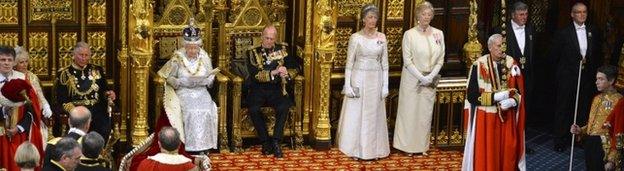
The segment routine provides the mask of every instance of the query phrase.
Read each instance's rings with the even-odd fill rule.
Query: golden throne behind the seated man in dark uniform
[[[245,51],[260,45],[260,36],[265,25],[271,23],[270,19],[265,12],[265,8],[260,5],[257,0],[250,0],[236,10],[232,10],[232,13],[240,11],[237,14],[232,14],[233,22],[220,24],[219,28],[219,67],[222,68],[222,73],[230,78],[232,81],[231,90],[229,91],[228,105],[231,106],[230,112],[232,114],[232,145],[237,151],[240,151],[243,146],[243,138],[256,137],[256,132],[248,117],[248,111],[245,107],[245,95],[246,87],[245,81],[248,78],[248,71],[246,68],[247,59],[245,57]],[[278,30],[278,40],[284,38],[284,22],[272,23]],[[293,54],[293,53],[291,53]],[[291,145],[295,148],[303,146],[302,135],[302,103],[303,98],[303,80],[304,77],[299,75],[294,78],[293,91],[289,94],[294,95],[295,105],[290,108],[290,114],[284,127],[284,136],[291,137]],[[273,132],[273,126],[275,124],[274,110],[271,107],[263,107],[262,113],[267,118],[267,127],[269,134]]]

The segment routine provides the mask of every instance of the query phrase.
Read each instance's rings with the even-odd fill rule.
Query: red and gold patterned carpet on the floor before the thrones
[[[254,146],[242,153],[210,154],[213,170],[460,170],[462,153],[459,151],[430,150],[428,156],[407,156],[393,150],[389,157],[356,161],[336,148],[329,151],[283,148],[284,158],[260,153]]]

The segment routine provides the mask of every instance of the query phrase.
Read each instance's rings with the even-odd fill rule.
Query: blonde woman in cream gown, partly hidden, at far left
[[[48,100],[46,100],[45,96],[43,95],[39,77],[37,77],[36,74],[28,70],[29,62],[30,62],[30,59],[28,56],[28,51],[26,51],[26,49],[20,46],[15,47],[15,67],[13,68],[15,69],[15,71],[21,72],[26,76],[26,81],[28,81],[30,85],[32,85],[32,87],[37,92],[37,98],[39,99],[39,103],[41,104],[41,109],[43,110],[41,114],[43,114],[43,117],[45,118],[50,118],[50,116],[52,116],[52,110],[50,109],[50,104],[48,103]],[[43,120],[41,122],[43,122]],[[43,123],[38,124],[38,125],[40,125],[41,127],[40,128],[41,138],[43,139],[43,148],[45,149],[46,141],[48,139],[48,127],[46,126],[46,124],[43,124]]]

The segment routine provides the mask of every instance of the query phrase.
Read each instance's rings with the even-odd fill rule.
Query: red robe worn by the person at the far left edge
[[[15,73],[14,73],[15,74]],[[5,168],[7,170],[19,170],[17,164],[14,161],[15,152],[17,147],[25,141],[30,141],[37,147],[37,151],[39,151],[39,166],[35,170],[41,170],[42,162],[43,162],[43,140],[41,138],[41,130],[39,124],[41,124],[41,106],[39,105],[39,98],[37,98],[37,94],[34,89],[30,89],[28,91],[28,98],[32,102],[33,108],[33,116],[30,124],[30,130],[24,133],[18,133],[13,135],[10,139],[6,135],[0,136],[0,168]],[[4,98],[4,97],[2,97]],[[6,99],[6,98],[5,98]],[[6,105],[6,104],[3,104]],[[26,108],[24,105],[21,105],[15,108],[12,114],[17,114],[17,120],[20,121],[24,118],[24,114],[26,113]],[[9,128],[6,128],[9,129]]]

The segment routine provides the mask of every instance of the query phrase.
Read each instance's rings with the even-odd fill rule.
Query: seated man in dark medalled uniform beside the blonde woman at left
[[[100,66],[89,63],[91,50],[89,44],[78,42],[74,48],[74,61],[70,66],[57,73],[54,83],[56,100],[65,112],[76,106],[85,106],[91,111],[91,129],[104,139],[111,132],[111,119],[108,116],[108,100],[115,100],[115,92],[106,85],[106,74]]]

